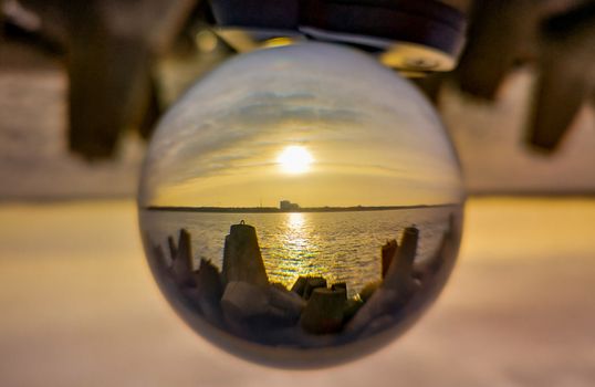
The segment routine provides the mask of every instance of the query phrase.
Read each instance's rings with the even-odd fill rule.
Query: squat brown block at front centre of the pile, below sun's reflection
[[[343,327],[345,289],[316,287],[307,302],[300,325],[313,334],[337,333]]]

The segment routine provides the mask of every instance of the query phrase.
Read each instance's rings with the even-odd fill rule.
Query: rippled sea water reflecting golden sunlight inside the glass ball
[[[164,251],[167,238],[177,239],[180,228],[190,232],[195,269],[200,259],[221,269],[229,228],[243,220],[257,229],[270,282],[291,287],[300,275],[321,275],[330,284],[346,282],[353,295],[380,280],[380,248],[390,239],[399,240],[406,227],[419,229],[416,262],[431,259],[449,228],[449,217],[458,217],[460,207],[275,213],[140,211],[149,240]]]

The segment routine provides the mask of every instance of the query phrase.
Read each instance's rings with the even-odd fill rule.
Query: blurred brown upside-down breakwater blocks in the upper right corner
[[[555,150],[594,94],[595,3],[581,0],[476,0],[457,71],[461,90],[494,100],[508,73],[535,63],[537,84],[526,142]],[[428,86],[436,93],[436,85]]]

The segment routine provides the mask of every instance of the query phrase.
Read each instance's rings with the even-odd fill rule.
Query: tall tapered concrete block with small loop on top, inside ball
[[[223,248],[223,282],[268,285],[269,278],[260,252],[257,230],[243,222],[232,224]]]

